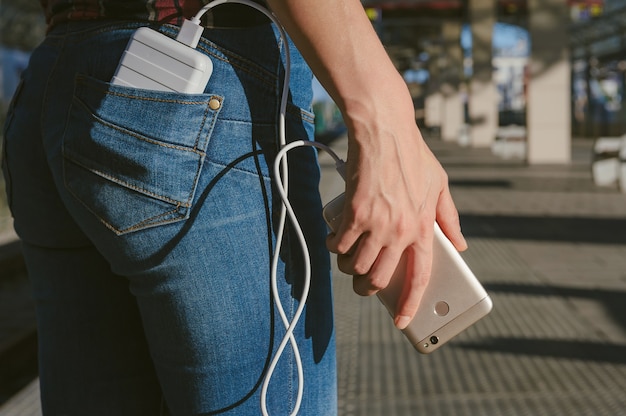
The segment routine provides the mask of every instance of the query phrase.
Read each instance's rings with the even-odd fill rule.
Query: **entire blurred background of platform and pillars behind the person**
[[[495,308],[421,357],[336,270],[340,414],[626,415],[626,0],[362,3]],[[2,125],[44,35],[38,1],[0,0]],[[341,114],[314,91],[316,139],[341,153]],[[328,200],[343,183],[320,160]],[[0,174],[2,416],[39,414],[28,290]]]

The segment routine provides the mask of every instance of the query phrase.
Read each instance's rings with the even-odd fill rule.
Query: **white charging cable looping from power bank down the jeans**
[[[204,16],[204,14],[208,12],[209,10],[211,10],[212,8],[222,5],[222,4],[227,4],[227,3],[243,4],[243,5],[252,7],[258,10],[259,12],[265,14],[278,28],[281,42],[285,46],[284,48],[285,75],[284,75],[283,86],[282,86],[282,91],[281,91],[279,120],[278,120],[278,141],[279,141],[280,151],[276,155],[276,159],[274,162],[274,178],[275,178],[274,182],[275,182],[276,188],[278,189],[278,192],[280,194],[280,197],[283,203],[281,205],[281,210],[280,210],[280,215],[279,215],[279,220],[278,220],[278,227],[276,231],[276,236],[277,236],[276,248],[274,249],[274,253],[272,257],[270,281],[271,281],[272,295],[276,303],[276,309],[278,310],[278,313],[281,317],[283,325],[285,326],[286,332],[263,378],[263,386],[261,388],[261,411],[264,416],[269,416],[269,412],[267,410],[267,391],[269,388],[269,383],[276,369],[276,366],[280,360],[280,357],[282,356],[285,348],[287,347],[287,344],[291,344],[291,348],[293,349],[293,352],[294,352],[294,357],[295,357],[296,367],[297,367],[297,372],[298,372],[298,393],[296,397],[296,402],[294,404],[294,408],[291,413],[291,416],[295,416],[297,415],[300,409],[300,406],[302,404],[302,396],[304,392],[304,372],[302,368],[302,358],[300,356],[300,352],[298,350],[298,344],[293,335],[293,331],[296,325],[298,324],[298,321],[302,315],[302,312],[304,311],[306,300],[309,295],[309,289],[311,285],[311,260],[310,260],[310,255],[309,255],[309,250],[308,250],[308,246],[306,243],[306,239],[304,237],[304,233],[302,232],[302,227],[298,223],[298,219],[296,218],[296,215],[288,199],[289,178],[288,178],[288,164],[287,164],[286,156],[290,150],[296,147],[313,146],[313,147],[317,147],[319,149],[322,149],[328,152],[335,159],[337,163],[338,171],[340,173],[343,172],[343,161],[332,151],[332,149],[318,142],[300,140],[300,141],[294,141],[290,144],[287,144],[285,117],[287,113],[287,101],[289,98],[289,79],[290,79],[290,71],[291,71],[291,58],[290,58],[290,52],[289,52],[289,44],[288,44],[287,36],[285,34],[285,31],[282,25],[280,24],[276,16],[272,12],[270,12],[267,8],[250,0],[215,0],[215,1],[212,1],[208,3],[207,5],[205,5],[204,7],[202,7],[202,9],[200,9],[200,11],[198,11],[198,13],[191,20],[185,19],[176,37],[176,40],[180,43],[183,43],[195,49],[196,46],[198,45],[198,42],[200,41],[202,32],[204,30],[204,27],[201,25],[201,22],[200,22],[200,19],[202,18],[202,16]],[[282,303],[280,301],[280,296],[278,292],[278,283],[277,283],[278,263],[280,261],[280,251],[281,251],[287,216],[289,216],[289,220],[292,223],[293,229],[298,237],[298,241],[300,243],[300,247],[302,250],[302,255],[304,259],[304,268],[305,268],[302,294],[299,299],[298,308],[296,308],[296,311],[291,320],[289,320],[289,318],[287,317],[283,309]]]

